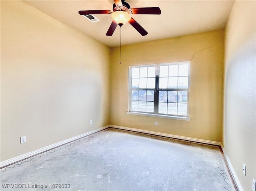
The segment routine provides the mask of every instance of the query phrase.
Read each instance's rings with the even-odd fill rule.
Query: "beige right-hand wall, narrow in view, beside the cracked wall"
[[[255,7],[255,1],[236,1],[225,31],[223,145],[240,190],[252,190],[256,180]]]

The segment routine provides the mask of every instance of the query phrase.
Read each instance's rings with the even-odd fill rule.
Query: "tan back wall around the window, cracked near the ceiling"
[[[110,124],[221,141],[223,30],[123,46],[121,65],[119,47],[112,48],[111,56]],[[189,96],[191,121],[126,114],[129,66],[189,60],[191,60]],[[154,125],[156,120],[158,126]]]

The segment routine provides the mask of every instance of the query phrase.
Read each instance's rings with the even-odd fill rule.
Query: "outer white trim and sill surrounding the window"
[[[174,62],[171,64],[182,64],[182,63],[189,63],[190,61],[182,61],[182,62]],[[167,63],[162,63],[167,64]],[[170,63],[168,63],[170,64]],[[156,64],[149,64],[149,65],[145,65],[145,67],[150,67],[150,66],[155,66]],[[157,64],[160,65],[160,64]],[[130,85],[131,85],[131,78],[130,78],[130,68],[131,67],[142,67],[142,65],[137,65],[137,66],[130,66],[129,67],[129,80],[128,80],[128,111],[126,112],[126,114],[130,114],[130,115],[140,115],[140,116],[149,116],[149,117],[156,117],[156,118],[167,118],[167,119],[174,119],[174,120],[184,120],[184,121],[190,121],[191,118],[188,116],[173,116],[173,115],[164,115],[164,114],[152,114],[152,113],[144,113],[144,112],[134,112],[134,111],[129,111],[130,110]],[[190,71],[190,69],[189,69]],[[190,87],[190,72],[188,73],[188,87]],[[190,91],[190,88],[188,88],[188,92]],[[188,115],[189,115],[189,99],[188,99]]]

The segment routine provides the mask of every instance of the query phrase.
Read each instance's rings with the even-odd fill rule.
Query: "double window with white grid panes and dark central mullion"
[[[129,112],[188,118],[189,65],[131,66]]]

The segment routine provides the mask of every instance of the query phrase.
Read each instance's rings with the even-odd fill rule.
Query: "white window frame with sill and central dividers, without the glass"
[[[159,89],[159,68],[160,66],[165,66],[165,65],[182,65],[182,64],[188,64],[188,88],[187,89]],[[186,116],[180,116],[180,115],[172,115],[172,114],[160,114],[158,112],[140,112],[140,111],[132,111],[132,100],[131,100],[131,94],[132,94],[132,69],[133,68],[140,68],[140,67],[156,67],[156,83],[157,86],[154,88],[155,94],[157,94],[159,98],[159,91],[182,91],[185,90],[187,91],[187,115]],[[161,64],[151,64],[151,65],[136,65],[136,66],[130,66],[129,67],[129,85],[128,85],[128,112],[127,114],[132,114],[132,115],[140,115],[140,116],[150,116],[150,117],[158,117],[158,118],[169,118],[169,119],[176,119],[176,120],[186,120],[190,121],[191,118],[189,117],[189,89],[190,89],[190,61],[184,61],[184,62],[175,62],[175,63],[161,63]],[[146,89],[141,89],[141,90],[146,90]],[[149,90],[149,89],[148,89]],[[152,89],[150,89],[152,90]],[[154,108],[158,108],[158,98],[157,102],[156,99],[154,99]],[[156,111],[154,109],[154,111]]]

